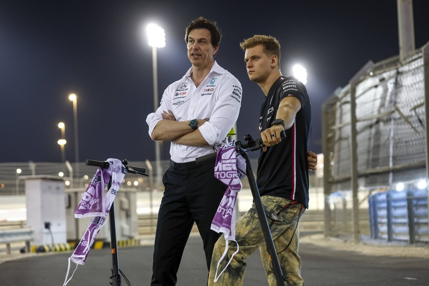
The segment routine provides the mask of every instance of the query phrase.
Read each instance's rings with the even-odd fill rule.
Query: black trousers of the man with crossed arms
[[[203,242],[207,269],[220,233],[211,222],[227,186],[214,177],[214,162],[171,162],[163,176],[164,196],[158,212],[151,286],[173,286],[194,222]]]

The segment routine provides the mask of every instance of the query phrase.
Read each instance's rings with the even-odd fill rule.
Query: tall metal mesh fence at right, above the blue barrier
[[[404,60],[368,62],[323,104],[326,235],[340,232],[332,212],[342,206],[333,201],[349,201],[352,223],[342,231],[357,242],[369,230],[359,214],[370,195],[427,181],[428,74],[426,45]]]

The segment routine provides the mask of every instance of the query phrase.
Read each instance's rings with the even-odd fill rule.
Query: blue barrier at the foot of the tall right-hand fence
[[[371,237],[429,243],[427,190],[387,191],[369,198]]]

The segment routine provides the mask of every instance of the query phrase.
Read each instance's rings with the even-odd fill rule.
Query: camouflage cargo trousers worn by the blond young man
[[[261,200],[267,214],[268,224],[270,225],[271,235],[273,236],[283,274],[286,275],[286,279],[291,285],[302,286],[304,284],[301,277],[301,258],[298,255],[299,228],[297,228],[297,223],[299,217],[304,213],[305,207],[300,202],[279,197],[263,196]],[[208,285],[243,285],[246,273],[245,259],[259,247],[268,284],[277,286],[255,204],[237,221],[235,238],[239,245],[238,253],[215,283],[217,264],[224,253],[226,245],[223,235],[216,242],[210,265]],[[218,275],[225,268],[231,255],[236,250],[235,242],[229,242],[228,254],[219,264]]]

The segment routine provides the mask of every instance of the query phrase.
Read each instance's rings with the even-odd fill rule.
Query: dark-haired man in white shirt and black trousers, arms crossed
[[[146,118],[153,140],[171,142],[151,286],[176,284],[194,222],[203,241],[208,270],[220,236],[210,225],[227,187],[214,177],[214,161],[198,167],[195,163],[197,157],[215,152],[225,141],[241,106],[240,82],[214,60],[220,40],[216,23],[202,17],[191,22],[185,41],[192,66],[183,78],[167,87],[160,107]]]

